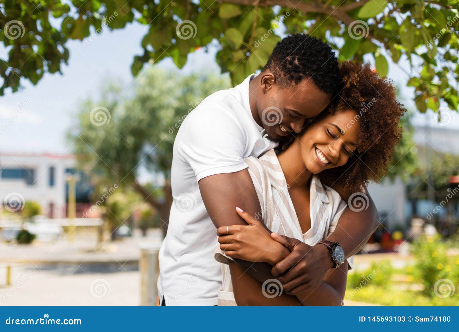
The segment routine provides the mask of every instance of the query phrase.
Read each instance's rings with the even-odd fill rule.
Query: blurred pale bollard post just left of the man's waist
[[[152,243],[140,247],[140,305],[156,305],[160,247],[161,243]]]

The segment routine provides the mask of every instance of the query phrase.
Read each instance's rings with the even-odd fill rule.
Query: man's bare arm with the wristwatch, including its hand
[[[351,197],[349,191],[339,188],[336,188],[336,191],[345,200]],[[364,246],[378,223],[377,210],[371,197],[367,193],[361,194],[368,197],[368,201],[365,200],[368,202],[365,203],[366,208],[347,208],[341,214],[335,231],[327,237],[327,240],[340,243],[346,258]],[[274,233],[272,236],[275,240],[284,241],[284,245],[291,252],[271,271],[282,282],[287,292],[297,294],[324,280],[325,274],[333,266],[330,252],[324,245],[318,244],[310,248],[296,239]]]

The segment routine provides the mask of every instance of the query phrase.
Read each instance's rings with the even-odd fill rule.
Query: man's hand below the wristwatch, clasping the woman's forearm
[[[291,253],[271,270],[287,294],[303,292],[323,281],[333,267],[330,251],[325,245],[311,247],[297,239],[271,233]]]

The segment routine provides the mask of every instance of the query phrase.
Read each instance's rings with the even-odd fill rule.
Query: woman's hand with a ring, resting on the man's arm
[[[274,241],[257,219],[241,209],[236,208],[236,211],[247,222],[247,226],[221,226],[217,229],[220,249],[228,257],[275,265],[290,253],[282,244]]]

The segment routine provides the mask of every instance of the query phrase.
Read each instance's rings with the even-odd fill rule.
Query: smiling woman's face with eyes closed
[[[359,120],[352,109],[337,111],[310,124],[299,139],[308,171],[318,174],[347,163],[356,149],[358,133]]]

